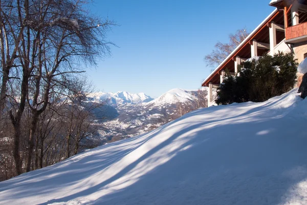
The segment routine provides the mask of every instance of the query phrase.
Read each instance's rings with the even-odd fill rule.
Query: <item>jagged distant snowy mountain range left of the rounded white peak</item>
[[[89,96],[92,97],[93,100],[104,100],[109,98],[112,104],[140,104],[152,100],[152,98],[145,93],[134,94],[125,91],[117,93],[96,92],[91,93]]]

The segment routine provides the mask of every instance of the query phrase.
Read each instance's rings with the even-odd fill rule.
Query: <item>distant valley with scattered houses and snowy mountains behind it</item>
[[[141,135],[170,122],[187,112],[206,107],[207,91],[172,89],[160,97],[128,92],[92,93],[90,99],[108,99],[108,104],[95,113],[98,132],[91,138],[100,145]]]

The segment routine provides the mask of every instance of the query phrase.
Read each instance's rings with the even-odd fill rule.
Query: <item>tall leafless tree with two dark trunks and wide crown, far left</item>
[[[30,130],[25,167],[30,171],[39,116],[47,109],[54,93],[69,89],[66,83],[69,78],[84,72],[80,69],[82,66],[95,65],[97,56],[109,54],[112,43],[106,42],[105,36],[109,26],[114,24],[84,10],[86,0],[3,2],[0,1],[0,51],[6,58],[2,58],[1,65],[0,111],[6,104],[6,97],[10,96],[13,156],[16,173],[21,174],[20,138],[25,133],[20,129],[26,107],[30,110]],[[5,11],[5,8],[9,9]],[[7,89],[13,67],[17,77],[11,84],[17,87],[18,93]]]

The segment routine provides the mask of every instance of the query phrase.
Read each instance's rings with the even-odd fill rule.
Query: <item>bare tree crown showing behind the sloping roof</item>
[[[217,66],[249,35],[246,28],[239,29],[235,34],[229,34],[229,43],[217,42],[214,50],[205,55],[204,60],[208,66]]]

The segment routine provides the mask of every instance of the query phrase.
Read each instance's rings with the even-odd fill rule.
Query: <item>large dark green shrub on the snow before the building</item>
[[[226,73],[215,103],[262,102],[288,92],[295,84],[297,66],[291,53],[282,52],[245,61],[236,76]]]

